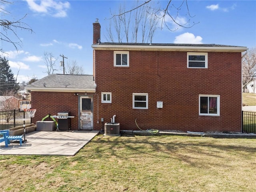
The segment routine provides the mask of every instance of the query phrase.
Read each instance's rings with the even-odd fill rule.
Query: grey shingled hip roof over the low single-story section
[[[31,91],[95,92],[92,75],[51,74],[25,87]]]

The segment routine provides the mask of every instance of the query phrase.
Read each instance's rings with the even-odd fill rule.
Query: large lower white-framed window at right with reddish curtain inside
[[[199,95],[199,115],[220,116],[220,96]]]

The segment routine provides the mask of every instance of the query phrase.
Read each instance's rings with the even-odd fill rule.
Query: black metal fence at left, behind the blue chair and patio
[[[31,118],[25,111],[0,111],[0,130],[31,124]]]

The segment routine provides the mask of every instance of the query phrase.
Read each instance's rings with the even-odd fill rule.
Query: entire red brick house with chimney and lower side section
[[[34,121],[69,111],[72,130],[241,131],[241,46],[100,42],[93,23],[93,75],[52,74],[31,90]]]

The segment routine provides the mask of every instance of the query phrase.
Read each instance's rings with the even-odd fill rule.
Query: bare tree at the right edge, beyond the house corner
[[[256,48],[250,48],[242,58],[243,89],[256,79]]]

